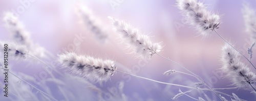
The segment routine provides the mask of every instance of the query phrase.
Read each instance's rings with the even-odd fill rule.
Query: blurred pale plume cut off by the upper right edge
[[[256,13],[248,3],[243,4],[242,13],[246,31],[251,35],[251,40],[256,41]]]

